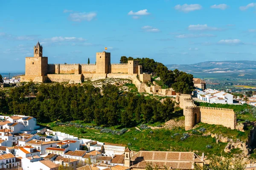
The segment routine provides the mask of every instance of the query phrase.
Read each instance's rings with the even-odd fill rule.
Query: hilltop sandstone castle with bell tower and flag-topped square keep
[[[143,74],[139,61],[129,60],[126,64],[111,64],[111,54],[96,53],[96,64],[48,64],[43,57],[43,46],[34,46],[34,57],[26,57],[25,76],[21,82],[70,82],[79,83],[84,79],[124,78],[148,82],[149,74]],[[137,83],[138,84],[138,83]]]

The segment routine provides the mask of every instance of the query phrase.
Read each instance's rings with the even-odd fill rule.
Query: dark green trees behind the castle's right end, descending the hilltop
[[[120,63],[128,63],[128,60],[132,60],[132,57],[122,56]],[[143,72],[145,73],[157,73],[157,76],[163,81],[163,84],[172,87],[176,92],[183,94],[191,94],[194,89],[193,75],[187,74],[183,71],[175,69],[174,71],[168,70],[168,68],[160,62],[155,62],[154,59],[149,58],[136,58],[134,60],[139,61],[139,65],[142,65]]]

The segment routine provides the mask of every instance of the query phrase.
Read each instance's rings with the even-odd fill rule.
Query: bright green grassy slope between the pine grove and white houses
[[[160,124],[160,123],[159,123]],[[198,132],[192,134],[191,131],[185,131],[184,128],[175,128],[172,130],[168,129],[147,129],[142,130],[141,132],[136,130],[134,127],[129,128],[129,131],[123,135],[113,135],[111,133],[100,133],[100,130],[95,129],[84,129],[81,133],[81,128],[76,127],[65,127],[65,126],[56,126],[54,122],[49,124],[41,124],[48,127],[51,127],[52,130],[61,131],[65,133],[78,136],[79,138],[93,139],[100,142],[108,142],[113,144],[122,144],[127,146],[128,143],[131,143],[132,150],[161,150],[161,151],[194,151],[195,153],[201,154],[205,153],[206,155],[223,155],[223,156],[232,156],[233,153],[241,153],[241,151],[233,150],[232,153],[224,153],[224,148],[227,143],[219,142],[218,144],[215,141],[215,138],[211,136],[203,136],[203,133]],[[84,124],[85,125],[85,124]],[[231,137],[233,139],[241,139],[245,141],[247,139],[247,132],[239,132],[237,130],[230,130],[226,127],[216,126],[216,125],[207,125],[204,123],[198,124],[196,128],[198,130],[200,127],[205,127],[207,131],[204,133],[212,132],[222,134],[223,136]],[[111,127],[113,129],[113,127]],[[150,133],[153,131],[153,133]],[[175,136],[175,133],[179,135]],[[183,136],[183,133],[189,133],[191,136],[185,141],[181,141],[180,138]],[[136,139],[135,139],[136,138]],[[135,140],[134,140],[135,139]],[[211,149],[207,149],[206,145],[212,145]]]

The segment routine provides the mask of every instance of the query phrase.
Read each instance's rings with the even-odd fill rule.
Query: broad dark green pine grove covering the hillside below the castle
[[[167,121],[175,104],[163,103],[130,92],[120,93],[115,85],[106,84],[103,91],[92,85],[26,85],[0,91],[0,106],[9,112],[34,116],[38,122],[84,120],[97,125],[132,125],[136,122]],[[8,105],[7,105],[8,103]],[[1,108],[1,107],[0,107]],[[1,111],[0,111],[1,112]]]

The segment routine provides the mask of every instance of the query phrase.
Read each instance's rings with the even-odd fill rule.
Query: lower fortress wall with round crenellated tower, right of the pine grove
[[[176,102],[183,108],[185,130],[191,130],[199,122],[236,129],[236,114],[233,109],[198,107],[190,94],[177,94]]]

